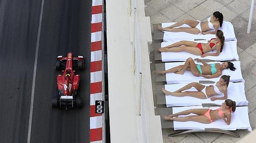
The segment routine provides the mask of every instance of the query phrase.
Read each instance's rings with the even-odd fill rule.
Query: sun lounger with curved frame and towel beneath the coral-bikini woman
[[[191,132],[219,132],[235,137],[240,137],[236,133],[232,132],[237,129],[247,129],[252,131],[249,118],[248,118],[248,107],[236,107],[236,111],[232,113],[231,124],[227,125],[222,119],[216,120],[211,124],[202,124],[195,121],[178,122],[164,120],[163,115],[168,116],[170,114],[181,112],[192,108],[206,108],[203,106],[191,106],[191,107],[173,107],[173,108],[159,108],[159,114],[161,116],[161,126],[162,128],[170,128],[175,130],[174,133],[168,136],[180,135]],[[216,109],[218,107],[211,107],[211,109]],[[192,115],[192,114],[190,114]],[[182,116],[179,116],[182,117]],[[178,130],[178,131],[177,131]],[[179,131],[181,130],[181,131]]]

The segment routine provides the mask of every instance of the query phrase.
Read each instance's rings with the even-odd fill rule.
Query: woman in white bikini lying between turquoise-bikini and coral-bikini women
[[[227,89],[228,89],[229,79],[230,79],[229,75],[223,75],[220,77],[218,82],[215,82],[214,85],[205,86],[205,85],[201,85],[196,82],[192,82],[192,83],[184,86],[183,88],[178,89],[175,92],[169,92],[169,91],[165,90],[164,88],[162,88],[162,91],[163,91],[163,93],[165,93],[165,95],[172,95],[175,97],[190,96],[190,97],[196,97],[196,98],[200,98],[200,99],[207,99],[207,98],[211,97],[212,101],[224,100],[224,99],[228,98],[228,90]],[[198,91],[182,92],[184,90],[191,89],[192,87],[194,87]],[[221,93],[224,93],[224,97],[212,97],[214,95],[218,95]]]

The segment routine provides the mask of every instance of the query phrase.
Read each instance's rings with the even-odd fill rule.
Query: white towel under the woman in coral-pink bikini
[[[203,108],[202,106],[192,106],[192,107],[173,107],[173,113],[181,112],[188,109]],[[217,109],[219,107],[212,107],[211,109]],[[195,114],[189,114],[186,116],[191,116]],[[184,117],[179,116],[179,117]],[[252,131],[249,117],[248,117],[248,107],[236,107],[236,111],[231,114],[230,125],[226,124],[222,119],[215,120],[210,124],[202,124],[195,121],[178,122],[174,121],[174,130],[195,130],[205,128],[219,128],[223,130],[236,130],[236,129],[247,129]]]

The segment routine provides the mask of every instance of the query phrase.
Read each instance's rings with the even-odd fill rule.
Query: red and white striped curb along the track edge
[[[90,142],[102,143],[102,114],[95,113],[95,100],[102,100],[102,0],[92,3]]]

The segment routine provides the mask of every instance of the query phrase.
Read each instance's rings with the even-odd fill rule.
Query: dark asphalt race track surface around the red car
[[[30,143],[88,143],[91,0],[45,0]],[[0,0],[0,142],[26,143],[41,0]],[[54,109],[57,55],[85,57],[83,108]]]

